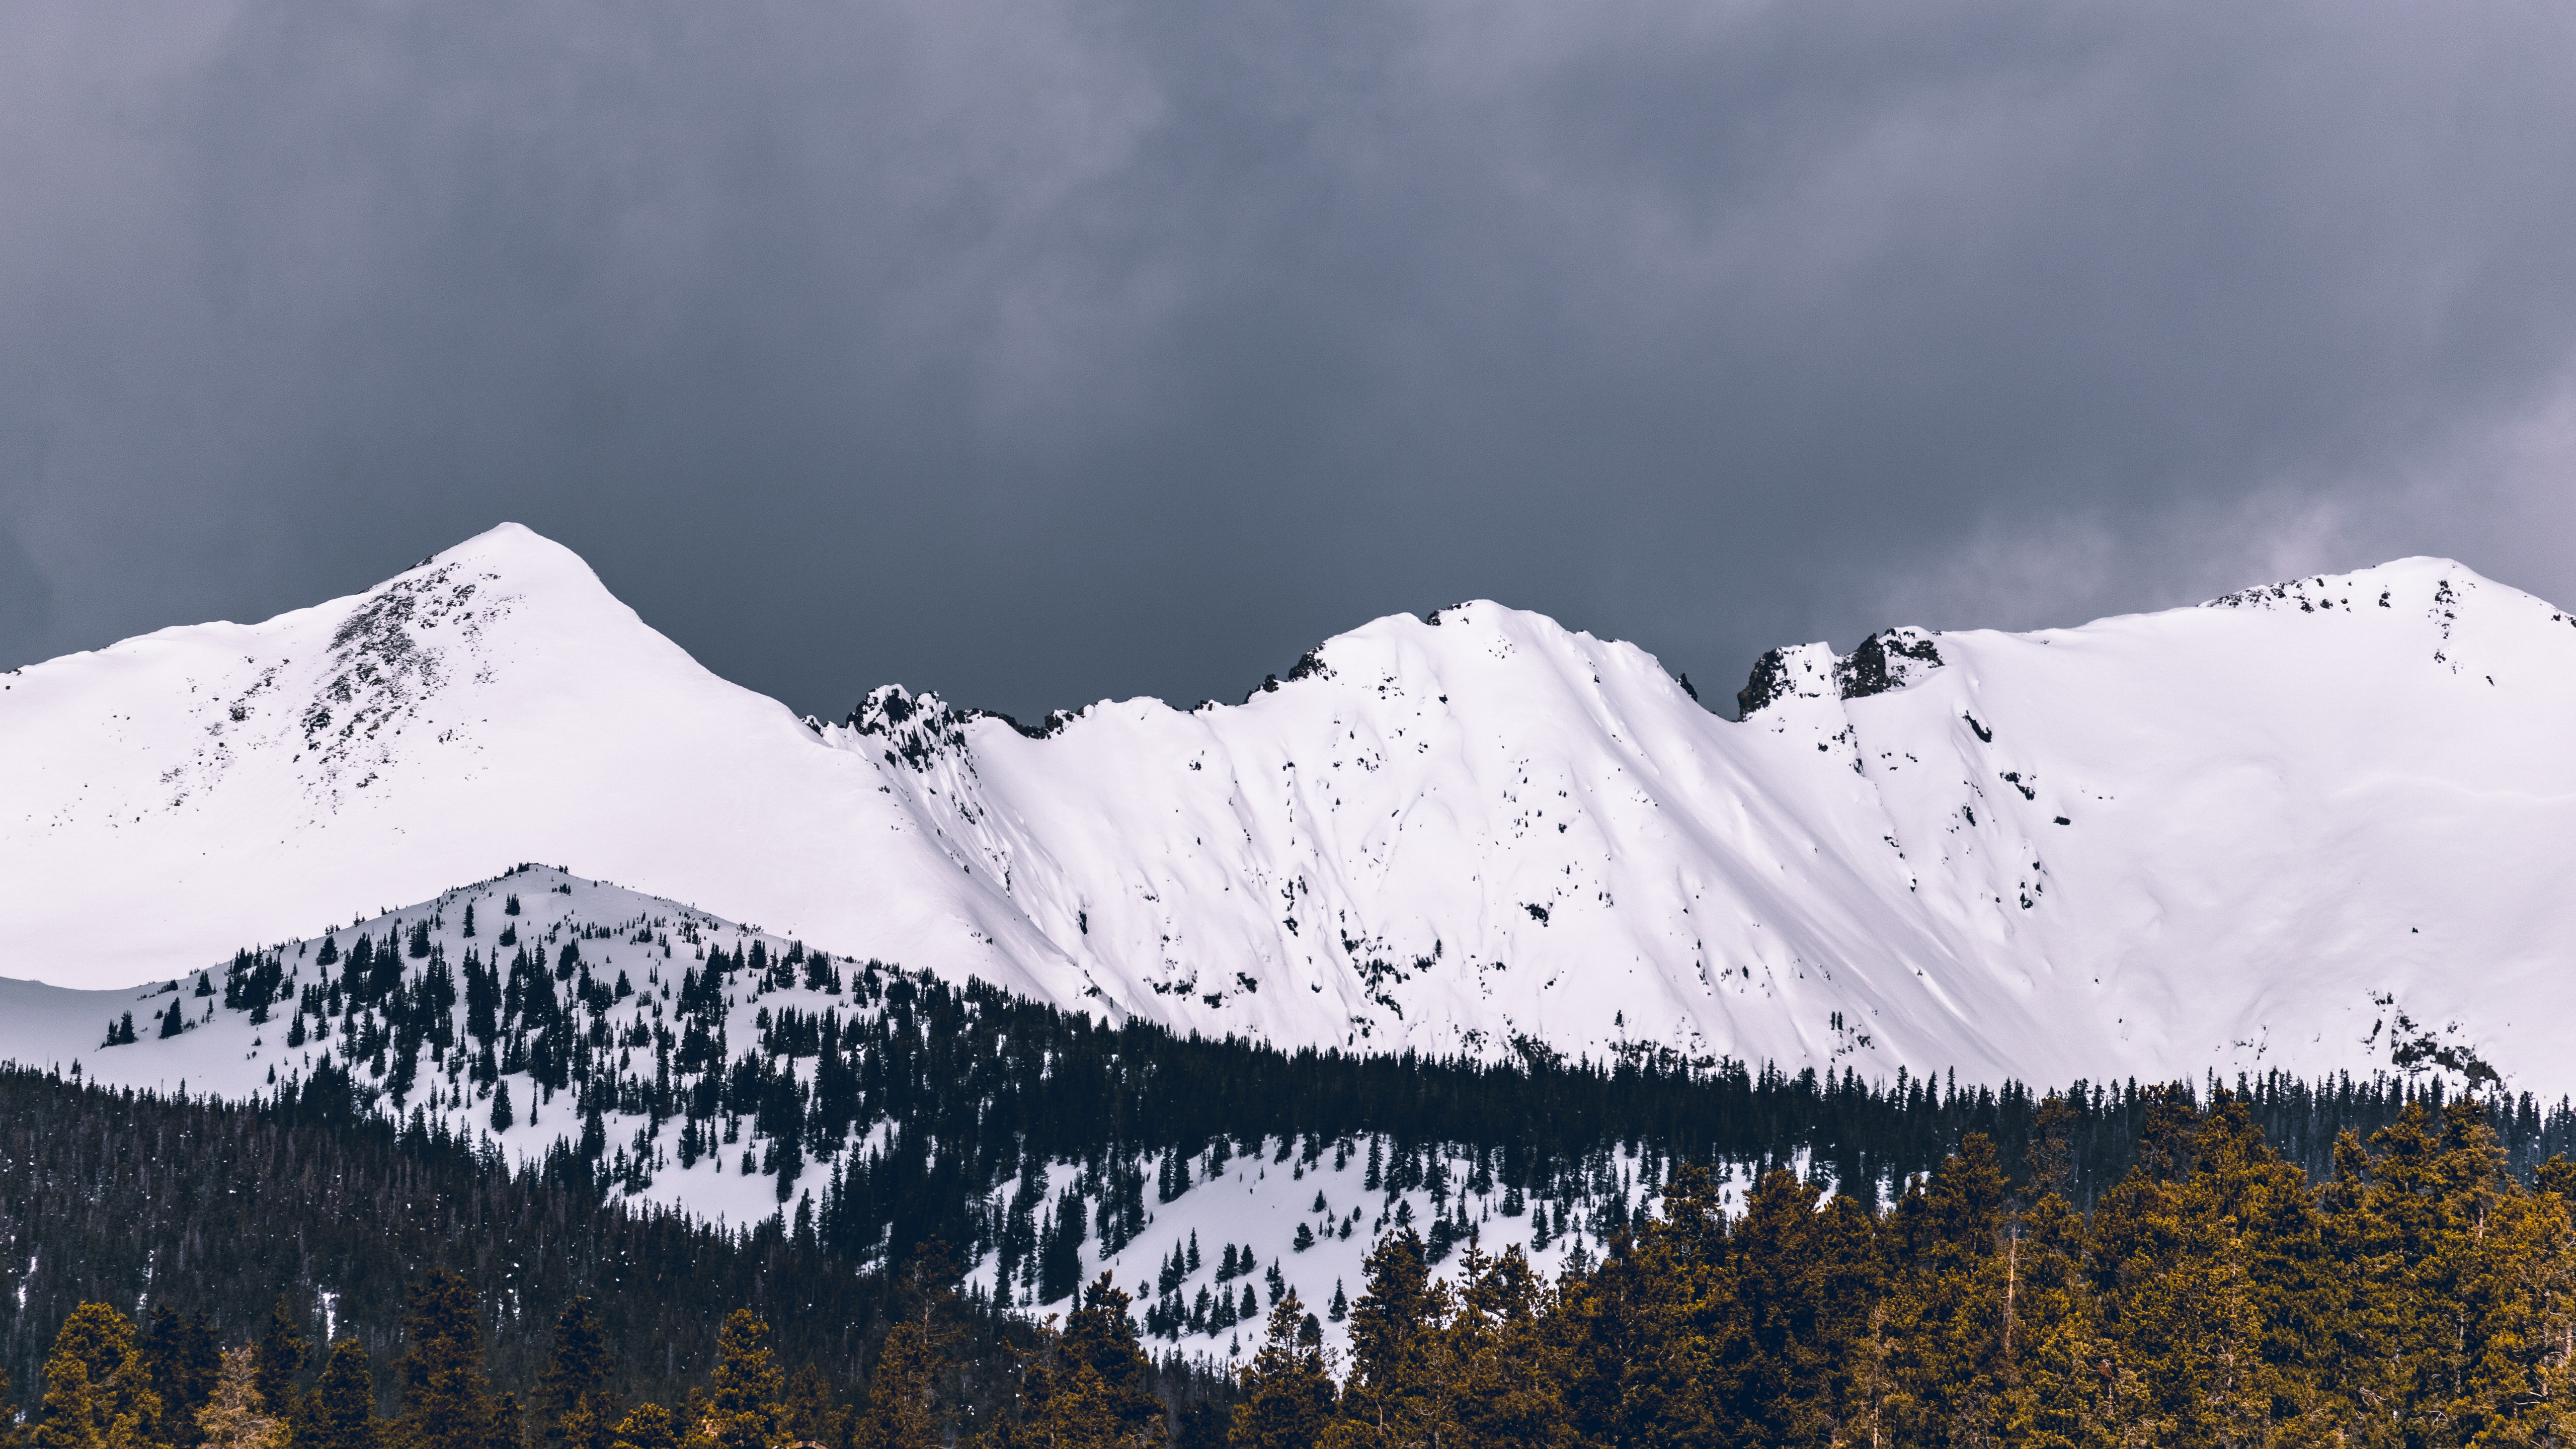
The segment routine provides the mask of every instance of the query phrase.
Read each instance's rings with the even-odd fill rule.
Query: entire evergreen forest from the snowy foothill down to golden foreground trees
[[[644,993],[677,987],[680,1029],[611,1057],[569,1024],[636,987],[595,982],[577,949],[546,969],[520,951],[507,977],[469,959],[453,1044],[428,931],[325,949],[340,959],[317,964],[343,969],[301,987],[283,954],[245,951],[222,995],[209,975],[191,998],[252,1021],[301,998],[296,1026],[340,1047],[250,1101],[0,1070],[13,1434],[49,1449],[2561,1436],[2566,1101],[2401,1078],[2032,1091],[1651,1055],[1283,1052],[757,938],[703,944],[677,982],[649,975]],[[577,982],[569,1006],[551,980]],[[848,1011],[788,990],[848,990]],[[726,1052],[739,1026],[755,1042]],[[188,1029],[173,1000],[162,1031]],[[108,1047],[134,1036],[116,1024]],[[428,1111],[435,1070],[459,1101],[489,1075],[471,1101],[495,1119],[513,1080],[531,1111],[564,1091],[582,1129],[510,1160]],[[644,1119],[631,1150],[608,1150],[608,1114]],[[683,1155],[739,1145],[778,1214],[716,1227],[639,1199],[665,1114]],[[1432,1214],[1381,1214],[1352,1302],[1273,1281],[1262,1315],[1247,1287],[1242,1323],[1267,1333],[1249,1366],[1185,1351],[1170,1281],[1082,1281],[1087,1240],[1113,1248],[1229,1158],[1324,1155],[1365,1155],[1391,1204],[1430,1189]],[[1728,1173],[1752,1189],[1728,1196]],[[1064,1186],[1041,1201],[1028,1183],[1048,1178]],[[1577,1243],[1553,1276],[1507,1240],[1548,1232]],[[987,1261],[989,1292],[969,1281]],[[1324,1348],[1324,1320],[1347,1325],[1347,1356]]]

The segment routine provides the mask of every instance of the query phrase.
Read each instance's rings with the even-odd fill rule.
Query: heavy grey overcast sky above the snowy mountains
[[[2439,552],[2576,603],[2563,0],[15,0],[0,665],[502,518],[708,668],[1690,670]]]

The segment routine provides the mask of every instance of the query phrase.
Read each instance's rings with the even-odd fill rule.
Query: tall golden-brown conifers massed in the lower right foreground
[[[2514,1178],[2486,1111],[2406,1106],[2311,1183],[2221,1096],[2151,1093],[2136,1168],[2063,1196],[2043,1101],[2014,1191],[1971,1134],[1886,1212],[1685,1168],[1597,1269],[1517,1248],[1458,1284],[1383,1238],[1334,1387],[1275,1312],[1236,1449],[2563,1446],[2576,1163]]]

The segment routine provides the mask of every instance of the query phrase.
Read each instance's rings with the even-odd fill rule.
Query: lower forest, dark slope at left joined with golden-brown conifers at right
[[[2246,1096],[2146,1088],[2130,1163],[2089,1209],[2069,1199],[2066,1093],[2038,1101],[2020,1163],[1963,1132],[1878,1207],[1772,1171],[1728,1212],[1718,1176],[1677,1160],[1649,1212],[1553,1279],[1479,1238],[1435,1276],[1425,1238],[1396,1227],[1347,1307],[1347,1361],[1291,1292],[1249,1364],[1213,1382],[1157,1364],[1105,1274],[1056,1312],[1005,1318],[958,1292],[940,1243],[853,1271],[811,1225],[726,1238],[634,1217],[567,1171],[404,1140],[345,1096],[240,1109],[49,1078],[10,1093],[10,1225],[39,1258],[113,1230],[46,1238],[72,1209],[18,1214],[31,1183],[137,1209],[162,1173],[90,1158],[75,1178],[80,1155],[39,1147],[26,1106],[193,1165],[240,1160],[206,1196],[265,1181],[319,1199],[227,1220],[157,1183],[185,1250],[160,1258],[155,1238],[139,1287],[108,1261],[67,1266],[59,1287],[95,1287],[70,1307],[21,1297],[21,1343],[36,1312],[54,1323],[13,1449],[2576,1439],[2576,1163],[2524,1181],[2476,1098],[2411,1098],[2367,1140],[2339,1132],[2311,1178]],[[291,1263],[379,1276],[314,1302]],[[245,1312],[276,1279],[229,1271],[286,1271],[289,1292]],[[636,1364],[657,1333],[659,1372]]]

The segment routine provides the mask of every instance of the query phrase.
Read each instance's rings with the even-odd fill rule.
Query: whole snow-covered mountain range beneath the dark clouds
[[[0,676],[0,969],[165,980],[544,859],[1180,1029],[1963,1078],[2563,1091],[2576,619],[2442,559],[1765,655],[1744,722],[1497,603],[1239,706],[806,722],[502,526]]]

